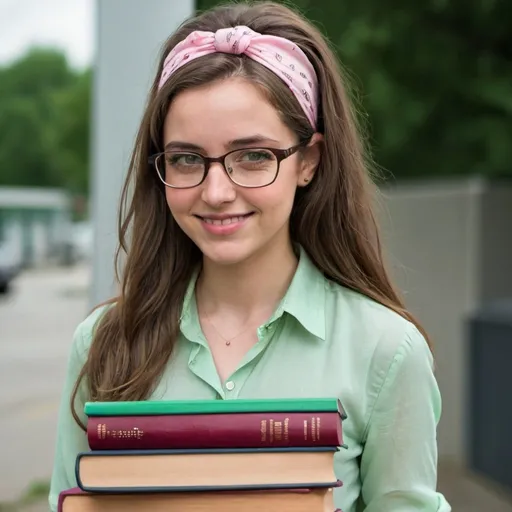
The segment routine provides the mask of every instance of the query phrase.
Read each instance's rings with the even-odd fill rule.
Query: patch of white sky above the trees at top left
[[[83,68],[94,54],[95,0],[0,0],[0,66],[31,46],[57,47]]]

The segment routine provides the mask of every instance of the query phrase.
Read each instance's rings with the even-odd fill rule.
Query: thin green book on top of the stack
[[[87,416],[237,414],[245,412],[337,412],[342,419],[346,418],[341,402],[337,398],[86,402],[84,411]]]

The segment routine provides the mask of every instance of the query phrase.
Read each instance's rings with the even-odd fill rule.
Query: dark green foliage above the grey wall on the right
[[[203,10],[219,2],[198,0]],[[512,4],[295,0],[332,41],[397,178],[512,175]]]

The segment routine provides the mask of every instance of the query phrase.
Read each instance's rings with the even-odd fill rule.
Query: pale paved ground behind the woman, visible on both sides
[[[89,275],[86,267],[27,272],[0,298],[0,503],[50,476],[67,351],[87,314]],[[448,464],[439,487],[456,512],[512,512],[510,495]],[[46,512],[46,501],[19,510]]]

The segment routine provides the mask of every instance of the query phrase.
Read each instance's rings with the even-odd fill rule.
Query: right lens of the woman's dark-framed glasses
[[[268,149],[241,149],[230,153],[225,160],[231,179],[243,187],[262,187],[272,183],[278,162]]]

